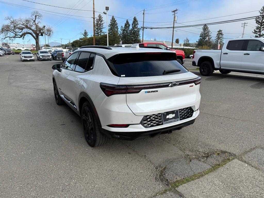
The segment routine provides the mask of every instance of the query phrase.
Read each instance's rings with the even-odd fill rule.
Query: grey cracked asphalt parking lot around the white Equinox
[[[186,59],[184,66],[193,68],[191,61]],[[91,148],[80,117],[55,103],[55,63],[62,61],[0,57],[0,197],[154,197],[169,182],[230,156],[246,164],[248,172],[255,171],[255,181],[263,182],[264,76],[201,76],[200,115],[193,125],[172,134],[132,142],[112,139]],[[243,164],[232,163],[234,169],[243,169]],[[227,173],[227,178],[233,174]],[[242,191],[252,185],[240,183]],[[263,190],[263,184],[258,185]],[[169,196],[196,197],[184,186]]]

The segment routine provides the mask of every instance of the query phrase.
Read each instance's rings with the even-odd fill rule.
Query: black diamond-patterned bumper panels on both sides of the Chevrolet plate
[[[192,117],[194,110],[191,107],[179,109],[180,120]],[[140,122],[145,128],[163,125],[162,114],[152,114],[144,116]]]

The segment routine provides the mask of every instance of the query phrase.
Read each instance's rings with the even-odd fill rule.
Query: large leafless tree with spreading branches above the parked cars
[[[24,39],[26,35],[31,35],[36,41],[36,50],[40,49],[39,36],[43,36],[44,29],[40,26],[40,20],[42,15],[38,11],[31,12],[31,16],[28,18],[6,17],[7,24],[2,25],[0,35],[4,35],[3,39],[16,38]],[[45,34],[50,36],[53,34],[51,27],[45,27]]]

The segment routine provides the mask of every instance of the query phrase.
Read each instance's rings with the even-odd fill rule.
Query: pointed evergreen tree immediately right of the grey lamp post
[[[114,16],[112,16],[108,27],[109,27],[108,28],[109,45],[120,44],[120,35],[118,32],[118,24],[117,24]]]

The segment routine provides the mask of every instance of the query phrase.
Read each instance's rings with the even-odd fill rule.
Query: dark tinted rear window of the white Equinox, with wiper
[[[119,77],[164,76],[188,72],[178,61],[176,53],[117,54],[108,59]],[[177,70],[176,72],[164,72]]]

